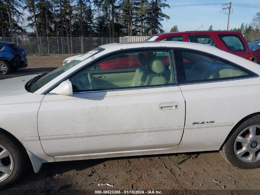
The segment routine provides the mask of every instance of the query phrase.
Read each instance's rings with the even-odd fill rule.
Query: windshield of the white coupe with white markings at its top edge
[[[43,73],[42,75],[38,75],[38,76],[34,77],[33,79],[31,79],[29,82],[27,82],[25,88],[27,91],[34,93],[35,91],[40,89],[42,86],[49,83],[51,80],[55,79],[56,77],[58,77],[59,75],[61,75],[64,72],[66,72],[70,68],[76,66],[77,64],[81,63],[82,61],[84,61],[84,60],[90,58],[91,56],[93,56],[101,51],[104,51],[104,50],[105,50],[104,48],[97,47],[97,48],[87,52],[86,54],[76,58],[72,62],[67,63],[64,66],[57,68],[56,70],[54,70],[52,72]]]

